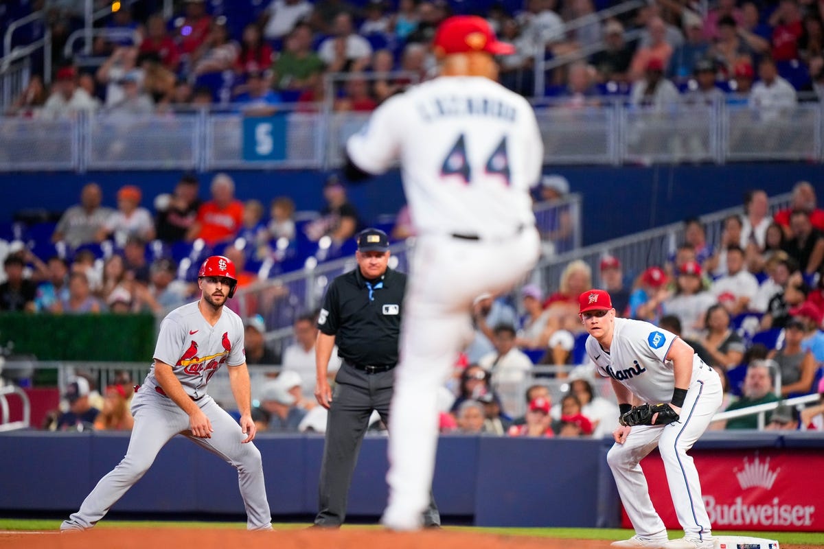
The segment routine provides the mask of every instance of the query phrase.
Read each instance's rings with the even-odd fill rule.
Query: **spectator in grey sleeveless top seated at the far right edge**
[[[784,328],[784,347],[768,355],[781,372],[781,396],[788,398],[812,392],[817,363],[810,349],[803,349],[806,326],[803,319],[790,319]]]

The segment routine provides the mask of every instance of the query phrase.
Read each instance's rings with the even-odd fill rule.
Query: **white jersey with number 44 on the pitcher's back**
[[[528,189],[543,142],[522,96],[485,77],[438,77],[386,100],[349,158],[371,174],[400,160],[419,234],[500,237],[535,223]]]

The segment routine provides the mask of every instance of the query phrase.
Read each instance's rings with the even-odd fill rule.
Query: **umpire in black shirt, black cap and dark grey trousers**
[[[389,424],[406,289],[406,275],[388,268],[386,233],[367,229],[356,238],[358,268],[332,281],[317,319],[315,398],[329,416],[315,525],[326,528],[338,528],[346,518],[349,485],[372,411]],[[343,363],[332,393],[326,374],[335,343]],[[438,508],[430,499],[424,525],[439,524]]]

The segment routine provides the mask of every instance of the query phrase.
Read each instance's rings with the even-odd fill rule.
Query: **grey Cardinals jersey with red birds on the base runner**
[[[241,318],[226,307],[218,322],[209,325],[200,314],[198,302],[194,301],[171,311],[163,319],[154,359],[171,365],[186,394],[200,398],[206,393],[208,380],[222,364],[237,366],[246,362],[243,329]],[[154,375],[154,363],[146,383],[160,387]]]

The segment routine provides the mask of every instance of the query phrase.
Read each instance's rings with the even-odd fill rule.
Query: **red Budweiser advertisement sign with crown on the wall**
[[[820,452],[762,449],[691,455],[714,530],[824,531]],[[658,452],[644,458],[641,467],[653,505],[667,528],[681,528]],[[623,522],[630,528],[626,514]]]

